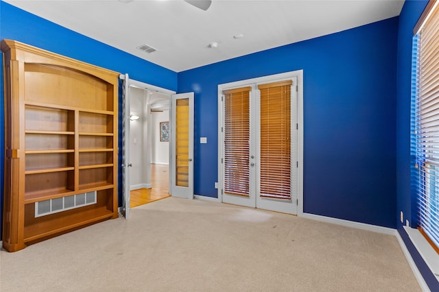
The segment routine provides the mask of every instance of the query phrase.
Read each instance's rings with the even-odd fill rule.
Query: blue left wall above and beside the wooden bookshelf
[[[18,40],[28,45],[53,51],[63,56],[75,58],[102,66],[119,73],[128,73],[134,80],[154,84],[170,90],[177,90],[177,73],[161,66],[147,62],[129,53],[125,53],[102,42],[93,40],[69,29],[41,19],[34,14],[25,12],[8,3],[0,1],[0,40],[8,38]],[[0,65],[3,68],[3,54]],[[0,70],[0,80],[3,80],[3,69]],[[0,82],[0,112],[3,108],[3,82]],[[119,97],[119,108],[121,100]],[[119,134],[121,132],[121,112],[119,112]],[[119,135],[119,149],[121,138]],[[4,153],[4,119],[0,119],[0,153]],[[119,155],[119,162],[121,160]],[[4,158],[0,156],[0,178],[3,178]],[[121,163],[119,163],[121,165]],[[121,169],[119,169],[119,184]],[[3,218],[3,179],[0,180],[0,215]],[[119,206],[121,205],[121,188],[119,188]],[[1,230],[1,226],[0,226]],[[1,233],[0,233],[1,234]]]

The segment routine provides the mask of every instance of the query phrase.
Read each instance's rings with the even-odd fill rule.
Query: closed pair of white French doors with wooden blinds
[[[297,77],[222,90],[222,202],[297,214]]]

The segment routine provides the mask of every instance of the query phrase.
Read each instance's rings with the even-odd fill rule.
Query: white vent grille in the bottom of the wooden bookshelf
[[[35,203],[35,217],[96,204],[96,191],[47,199]]]

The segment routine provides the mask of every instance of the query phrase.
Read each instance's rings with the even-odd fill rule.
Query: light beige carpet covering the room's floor
[[[420,291],[394,236],[169,197],[15,253],[6,291]]]

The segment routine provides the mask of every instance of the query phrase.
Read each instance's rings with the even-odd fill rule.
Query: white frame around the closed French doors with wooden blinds
[[[248,86],[248,84],[259,84],[267,82],[275,82],[276,80],[285,80],[296,77],[298,82],[297,91],[297,123],[298,123],[298,204],[297,215],[303,214],[303,70],[290,71],[275,75],[268,75],[263,77],[256,77],[248,80],[239,80],[236,82],[229,82],[226,84],[218,84],[217,102],[218,102],[218,200],[223,202],[222,186],[223,186],[223,141],[222,141],[222,124],[223,124],[223,108],[222,108],[222,92],[226,88],[239,88],[241,86]]]

